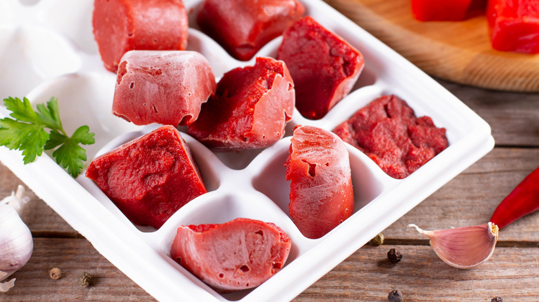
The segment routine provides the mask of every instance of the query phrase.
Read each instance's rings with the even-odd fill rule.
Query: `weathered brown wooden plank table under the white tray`
[[[500,232],[489,261],[459,270],[438,259],[426,237],[408,229],[442,229],[486,223],[498,203],[539,166],[539,96],[497,92],[440,81],[492,128],[495,148],[483,159],[444,185],[404,217],[384,230],[384,245],[354,252],[294,301],[387,301],[398,289],[405,301],[538,301],[539,213],[531,214]],[[21,183],[0,165],[0,197]],[[21,215],[34,236],[30,261],[12,275],[15,288],[0,293],[0,301],[155,301],[117,270],[30,192],[30,206]],[[399,249],[399,263],[387,252]],[[48,276],[60,268],[62,279]],[[90,288],[77,276],[90,272]],[[180,297],[179,297],[180,301]]]

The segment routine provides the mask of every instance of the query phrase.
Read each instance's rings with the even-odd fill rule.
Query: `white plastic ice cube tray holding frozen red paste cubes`
[[[160,301],[289,301],[373,236],[423,201],[493,148],[489,125],[437,82],[399,54],[319,0],[303,0],[310,14],[364,56],[365,68],[353,91],[318,121],[297,110],[285,138],[265,150],[213,153],[183,134],[209,192],[194,199],[160,230],[138,228],[84,177],[73,179],[47,154],[23,165],[21,152],[0,148],[1,161],[75,230],[144,290]],[[200,0],[185,0],[189,11],[188,50],[207,57],[217,79],[254,59],[236,61],[198,30]],[[32,103],[59,100],[64,128],[95,132],[88,159],[147,133],[111,114],[115,74],[104,69],[91,27],[92,0],[0,1],[0,97],[27,96]],[[275,57],[281,37],[256,57]],[[355,210],[321,239],[307,239],[288,212],[290,184],[285,163],[294,125],[332,130],[383,94],[404,99],[416,115],[446,128],[449,147],[406,179],[393,179],[348,145]],[[7,117],[0,108],[0,117]],[[180,128],[180,130],[182,130]],[[273,222],[292,239],[284,268],[252,290],[218,294],[169,257],[178,225],[224,223],[236,217]]]

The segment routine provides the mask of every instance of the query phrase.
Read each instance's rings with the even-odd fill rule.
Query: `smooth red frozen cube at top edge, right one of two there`
[[[303,12],[296,0],[205,0],[198,25],[232,57],[247,61]]]

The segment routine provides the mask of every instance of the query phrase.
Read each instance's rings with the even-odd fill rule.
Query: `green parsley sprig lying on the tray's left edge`
[[[0,119],[0,145],[10,150],[21,150],[24,163],[35,161],[41,156],[43,150],[56,150],[53,157],[56,162],[66,169],[72,177],[77,177],[84,168],[86,150],[82,145],[91,145],[95,139],[90,128],[83,125],[71,137],[68,137],[58,108],[58,100],[55,97],[44,104],[37,105],[37,112],[32,109],[30,101],[23,98],[9,97],[3,99],[3,104],[12,113],[9,117]],[[48,132],[46,131],[48,129]]]

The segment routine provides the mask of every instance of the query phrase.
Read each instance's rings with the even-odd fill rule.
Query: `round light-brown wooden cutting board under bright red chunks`
[[[325,0],[434,77],[493,90],[539,92],[539,54],[491,48],[484,16],[413,19],[410,0]]]

